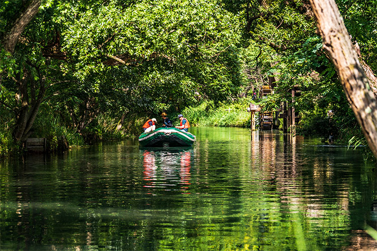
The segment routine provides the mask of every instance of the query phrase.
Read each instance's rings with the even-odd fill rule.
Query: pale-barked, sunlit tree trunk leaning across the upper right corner
[[[348,102],[356,115],[369,148],[377,158],[377,100],[352,47],[334,0],[310,0],[318,21],[323,47],[337,70]]]

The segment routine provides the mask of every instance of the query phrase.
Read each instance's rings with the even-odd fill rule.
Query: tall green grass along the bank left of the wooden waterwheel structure
[[[170,111],[168,115],[174,126],[179,124],[178,113],[182,113],[192,126],[250,127],[250,113],[246,112],[248,105],[249,100],[246,99],[221,104],[216,108],[213,102],[203,102],[199,106],[187,107],[181,112]],[[47,138],[50,151],[57,149],[58,140],[62,136],[67,139],[70,147],[84,146],[88,138],[98,141],[121,140],[140,135],[143,124],[152,117],[157,118],[157,121],[162,120],[160,114],[128,114],[122,129],[117,130],[119,118],[102,113],[78,134],[74,128],[66,124],[67,121],[63,121],[53,107],[45,104],[40,107],[30,138]],[[21,150],[12,138],[12,121],[10,118],[0,120],[0,157]],[[157,127],[159,126],[158,123]]]

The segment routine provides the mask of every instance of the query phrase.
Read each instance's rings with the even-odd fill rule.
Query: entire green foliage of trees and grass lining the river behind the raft
[[[337,3],[376,70],[376,4]],[[24,8],[21,0],[0,3],[0,39]],[[193,124],[249,127],[246,100],[276,80],[274,94],[258,100],[264,110],[286,101],[302,116],[298,132],[335,132],[346,142],[359,136],[359,127],[308,8],[301,0],[42,1],[15,52],[0,48],[0,105],[12,121],[9,130],[17,128],[23,107],[15,80],[24,73],[30,73],[23,95],[31,97],[28,107],[39,95],[42,100],[33,135],[51,142],[65,135],[71,145],[137,135],[161,111],[174,123],[182,111]],[[301,95],[292,98],[292,88]],[[328,110],[335,112],[331,119]],[[86,128],[78,130],[72,114]]]

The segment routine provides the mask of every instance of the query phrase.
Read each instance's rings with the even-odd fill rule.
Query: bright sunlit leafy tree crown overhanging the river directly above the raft
[[[127,109],[155,112],[203,97],[221,101],[239,90],[239,21],[215,3],[140,1],[124,8],[110,1],[71,15],[77,17],[63,34],[75,76],[84,81],[112,74],[101,84],[129,90],[132,104],[118,101]],[[99,64],[109,60],[106,55],[126,64],[109,69]]]

